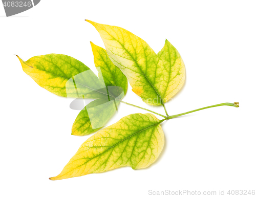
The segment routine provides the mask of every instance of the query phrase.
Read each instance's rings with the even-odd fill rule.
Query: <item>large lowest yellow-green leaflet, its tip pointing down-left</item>
[[[60,174],[51,180],[79,177],[122,166],[151,165],[164,145],[164,134],[153,114],[131,114],[85,141]]]

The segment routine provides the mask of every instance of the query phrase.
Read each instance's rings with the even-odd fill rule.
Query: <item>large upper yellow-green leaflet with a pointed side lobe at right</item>
[[[185,67],[169,41],[156,54],[144,40],[123,28],[87,21],[99,32],[110,59],[144,102],[163,104],[181,89]]]

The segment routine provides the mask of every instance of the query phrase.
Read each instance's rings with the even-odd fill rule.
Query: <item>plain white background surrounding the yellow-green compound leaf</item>
[[[41,1],[5,17],[0,6],[1,196],[148,196],[153,191],[256,189],[255,1]],[[89,136],[71,136],[79,113],[26,75],[14,54],[70,55],[96,72],[90,41],[104,47],[84,21],[127,29],[158,52],[167,38],[180,52],[186,82],[169,115],[221,106],[165,121],[165,146],[150,167],[131,167],[50,181]],[[164,114],[129,91],[124,101]],[[131,113],[125,104],[108,123]],[[157,116],[159,119],[161,117]],[[91,135],[90,135],[91,136]],[[228,195],[227,195],[228,196]]]

